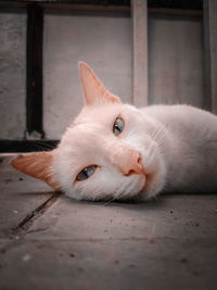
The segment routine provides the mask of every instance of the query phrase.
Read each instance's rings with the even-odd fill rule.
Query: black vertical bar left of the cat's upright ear
[[[42,125],[42,38],[43,11],[27,7],[26,138],[43,138]]]

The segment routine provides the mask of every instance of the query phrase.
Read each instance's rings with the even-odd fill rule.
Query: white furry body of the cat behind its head
[[[217,116],[190,105],[153,105],[142,112],[166,130],[165,191],[216,191]]]

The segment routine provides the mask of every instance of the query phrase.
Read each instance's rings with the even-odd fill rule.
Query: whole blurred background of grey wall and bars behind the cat
[[[214,0],[0,1],[0,151],[60,140],[82,106],[78,61],[124,102],[215,112],[216,10]]]

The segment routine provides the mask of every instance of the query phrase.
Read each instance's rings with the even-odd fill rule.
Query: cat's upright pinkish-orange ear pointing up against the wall
[[[122,103],[120,99],[111,93],[85,62],[79,62],[80,81],[86,105],[100,103]]]

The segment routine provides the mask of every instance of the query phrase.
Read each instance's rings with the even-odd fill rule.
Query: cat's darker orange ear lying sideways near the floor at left
[[[58,182],[52,180],[52,151],[35,152],[17,155],[11,164],[15,169],[47,182],[54,190],[60,190]]]

